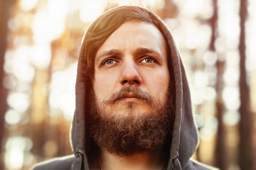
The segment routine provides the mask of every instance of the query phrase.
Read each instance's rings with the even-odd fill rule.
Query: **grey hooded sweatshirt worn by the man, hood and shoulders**
[[[122,8],[122,7],[117,7]],[[129,8],[129,6],[127,6]],[[137,7],[140,8],[140,7]],[[146,9],[143,9],[146,10]],[[147,10],[146,10],[147,11]],[[193,161],[191,156],[195,152],[198,145],[198,131],[193,120],[191,109],[191,95],[186,79],[186,73],[181,61],[181,56],[177,50],[174,38],[169,28],[154,13],[147,11],[154,20],[159,23],[159,29],[167,40],[169,45],[169,64],[172,64],[175,88],[176,88],[176,115],[174,121],[174,129],[172,132],[171,147],[169,151],[169,162],[166,167],[171,169],[213,169],[213,167],[203,165]],[[83,39],[83,41],[85,41]],[[78,74],[75,85],[76,105],[71,130],[71,142],[73,147],[73,155],[52,159],[48,162],[37,164],[33,168],[40,169],[73,169],[73,170],[89,170],[88,156],[92,146],[94,145],[89,133],[91,128],[89,108],[86,103],[90,103],[88,86],[88,77],[82,72],[84,67],[84,42],[80,49],[78,60]],[[171,113],[170,113],[171,114]]]

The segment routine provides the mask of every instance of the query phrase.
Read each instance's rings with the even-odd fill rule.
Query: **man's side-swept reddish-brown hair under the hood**
[[[117,30],[122,23],[127,21],[142,21],[152,23],[159,28],[156,16],[139,6],[120,6],[105,12],[94,21],[87,29],[82,42],[80,57],[83,57],[83,70],[88,81],[92,81],[94,75],[94,62],[97,50]],[[161,29],[159,29],[161,31]],[[169,51],[169,50],[168,50]]]

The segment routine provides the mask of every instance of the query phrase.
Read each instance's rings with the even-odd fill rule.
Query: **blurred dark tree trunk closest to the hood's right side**
[[[215,52],[215,39],[217,34],[217,21],[218,21],[218,6],[217,0],[213,0],[213,17],[210,18],[210,27],[212,35],[210,40],[210,51]],[[225,62],[218,60],[217,67],[217,81],[216,81],[216,117],[218,119],[218,132],[215,145],[215,166],[220,169],[228,169],[227,150],[225,146],[225,126],[223,124],[223,114],[225,107],[223,105],[222,91],[223,91],[223,72],[225,69]]]

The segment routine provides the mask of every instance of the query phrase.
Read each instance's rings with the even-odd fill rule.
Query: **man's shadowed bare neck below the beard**
[[[134,154],[128,157],[121,157],[117,154],[107,152],[105,149],[100,150],[98,158],[102,170],[115,169],[163,169],[164,159],[161,152],[150,152],[143,154]]]

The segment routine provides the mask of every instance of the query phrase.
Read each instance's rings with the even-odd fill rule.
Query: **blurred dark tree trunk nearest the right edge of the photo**
[[[247,0],[240,0],[240,169],[253,169],[252,114],[250,111],[250,93],[247,86],[245,68],[245,21],[247,18]]]

